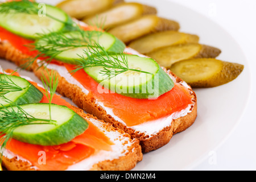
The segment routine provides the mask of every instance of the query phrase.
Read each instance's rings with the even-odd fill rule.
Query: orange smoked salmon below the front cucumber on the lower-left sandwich
[[[39,146],[15,139],[7,143],[6,149],[27,159],[32,166],[42,171],[63,171],[94,153],[94,148],[82,144],[76,144],[71,150],[61,151],[55,150],[53,146]]]

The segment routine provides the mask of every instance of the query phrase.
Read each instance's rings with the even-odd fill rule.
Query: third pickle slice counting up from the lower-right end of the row
[[[199,36],[178,31],[156,32],[133,40],[129,47],[146,54],[156,49],[184,43],[198,43]]]

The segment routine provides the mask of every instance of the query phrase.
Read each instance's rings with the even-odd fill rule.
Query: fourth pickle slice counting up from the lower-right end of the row
[[[109,33],[128,44],[144,35],[168,30],[177,31],[179,28],[179,23],[174,20],[160,18],[156,15],[144,15],[141,18],[110,29]]]

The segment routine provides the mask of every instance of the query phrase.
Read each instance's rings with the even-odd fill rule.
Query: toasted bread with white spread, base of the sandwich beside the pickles
[[[133,49],[127,50],[133,54],[137,53],[139,55],[139,53]],[[24,63],[24,55],[22,55],[22,52],[17,51],[9,43],[2,43],[2,46],[0,46],[0,52],[0,56],[5,55],[3,58],[13,61],[16,65]],[[15,58],[15,60],[13,58]],[[39,69],[38,68],[39,65],[35,62],[32,65],[32,71],[34,71],[36,76],[39,78],[42,76],[42,74],[47,76],[46,69],[44,67],[40,67]],[[151,125],[152,123],[148,123],[148,126],[146,127],[132,128],[127,127],[122,122],[117,121],[117,119],[114,118],[114,115],[108,113],[104,107],[96,102],[96,98],[88,97],[88,95],[84,92],[84,88],[82,88],[82,86],[79,84],[75,84],[75,79],[71,80],[72,77],[70,75],[64,76],[65,73],[69,74],[67,69],[64,69],[64,71],[61,69],[53,69],[51,67],[48,67],[48,69],[55,71],[59,77],[59,86],[57,88],[58,93],[64,97],[70,98],[79,108],[85,110],[87,113],[92,114],[98,119],[104,120],[105,122],[111,123],[118,129],[122,129],[126,133],[130,134],[131,138],[139,139],[142,146],[142,152],[149,152],[164,146],[170,141],[172,135],[186,130],[193,124],[193,122],[195,122],[197,116],[196,94],[193,92],[189,85],[175,76],[174,73],[172,73],[170,70],[167,71],[164,69],[176,83],[184,85],[190,90],[193,104],[189,105],[184,111],[176,113],[176,117],[170,117],[166,119],[166,123],[162,127],[160,127],[161,125],[158,125],[158,128],[151,130],[147,129],[147,127],[153,127]],[[150,132],[147,132],[147,130],[150,130]]]

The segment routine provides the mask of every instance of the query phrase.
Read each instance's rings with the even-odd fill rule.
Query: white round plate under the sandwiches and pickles
[[[56,1],[51,1],[53,2]],[[159,16],[179,22],[180,31],[199,35],[201,44],[220,48],[222,53],[217,59],[245,65],[241,75],[229,84],[216,88],[195,89],[198,99],[198,116],[195,123],[172,137],[166,146],[144,154],[142,162],[133,170],[193,169],[207,158],[209,152],[216,150],[240,122],[250,94],[249,64],[236,40],[207,17],[170,1],[136,2],[156,7]],[[14,64],[7,61],[0,60],[0,65],[3,68],[16,69]],[[21,74],[39,81],[30,72],[22,71]]]

